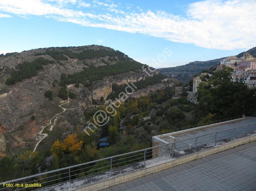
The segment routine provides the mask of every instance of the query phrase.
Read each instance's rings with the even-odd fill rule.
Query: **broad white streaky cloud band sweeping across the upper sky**
[[[48,2],[48,3],[47,3]],[[54,2],[57,2],[54,4]],[[109,13],[85,13],[63,8],[68,3],[83,7],[105,7]],[[256,1],[205,0],[189,4],[186,17],[164,11],[125,12],[112,2],[97,0],[93,5],[81,0],[1,0],[0,11],[17,15],[41,15],[83,26],[101,27],[129,33],[141,33],[173,42],[190,43],[204,48],[232,50],[254,47],[256,42]],[[129,9],[130,10],[130,9]],[[137,12],[138,12],[137,10]],[[102,10],[103,12],[104,10]],[[3,14],[0,14],[0,17]]]

